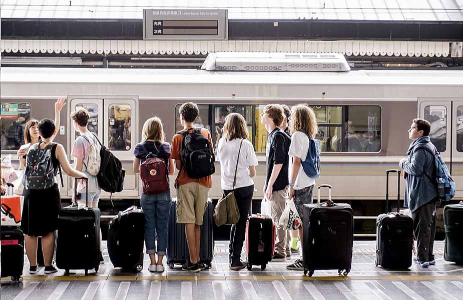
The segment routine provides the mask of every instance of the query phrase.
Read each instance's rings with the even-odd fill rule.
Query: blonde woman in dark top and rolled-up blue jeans
[[[159,117],[151,117],[145,121],[142,129],[142,141],[134,148],[134,172],[140,173],[140,163],[149,153],[165,160],[169,175],[174,174],[174,162],[169,159],[171,146],[164,141],[164,128]],[[142,192],[140,204],[145,213],[145,244],[146,253],[150,255],[150,272],[163,272],[162,263],[167,249],[167,220],[172,198],[170,190],[157,194]],[[157,233],[158,245],[156,249],[155,237]],[[158,255],[156,259],[156,254]]]

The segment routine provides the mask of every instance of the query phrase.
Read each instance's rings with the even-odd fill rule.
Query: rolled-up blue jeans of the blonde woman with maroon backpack
[[[166,255],[167,249],[167,220],[169,218],[172,198],[170,190],[159,194],[143,194],[140,204],[145,213],[145,244],[146,253]],[[158,251],[156,251],[156,233],[158,237]]]

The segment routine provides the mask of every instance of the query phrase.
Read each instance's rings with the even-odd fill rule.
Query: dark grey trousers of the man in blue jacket
[[[419,206],[411,213],[413,233],[416,239],[417,257],[421,261],[432,261],[434,255],[435,202]]]

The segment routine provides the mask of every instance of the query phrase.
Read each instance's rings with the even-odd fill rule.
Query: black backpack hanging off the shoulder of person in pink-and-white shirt
[[[95,135],[95,133],[93,133]],[[107,192],[119,192],[124,188],[124,177],[126,170],[122,168],[122,163],[119,158],[98,139],[101,145],[100,156],[101,165],[100,171],[97,174],[98,185]]]

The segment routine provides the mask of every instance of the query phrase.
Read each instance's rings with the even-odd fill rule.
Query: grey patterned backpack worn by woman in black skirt
[[[31,146],[26,156],[26,168],[24,169],[23,185],[26,189],[46,189],[55,184],[55,168],[52,162],[52,149],[57,143],[50,143],[44,149],[40,148],[41,141]],[[60,170],[61,184],[63,175]]]

